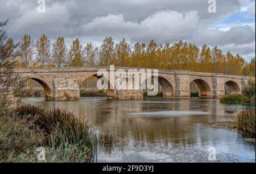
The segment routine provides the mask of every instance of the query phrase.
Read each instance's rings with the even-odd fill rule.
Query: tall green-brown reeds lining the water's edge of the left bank
[[[93,161],[96,155],[97,136],[84,120],[63,109],[43,109],[39,106],[22,105],[16,107],[18,118],[26,118],[44,130],[48,136],[48,146],[52,148],[71,144],[84,152],[86,161]]]

